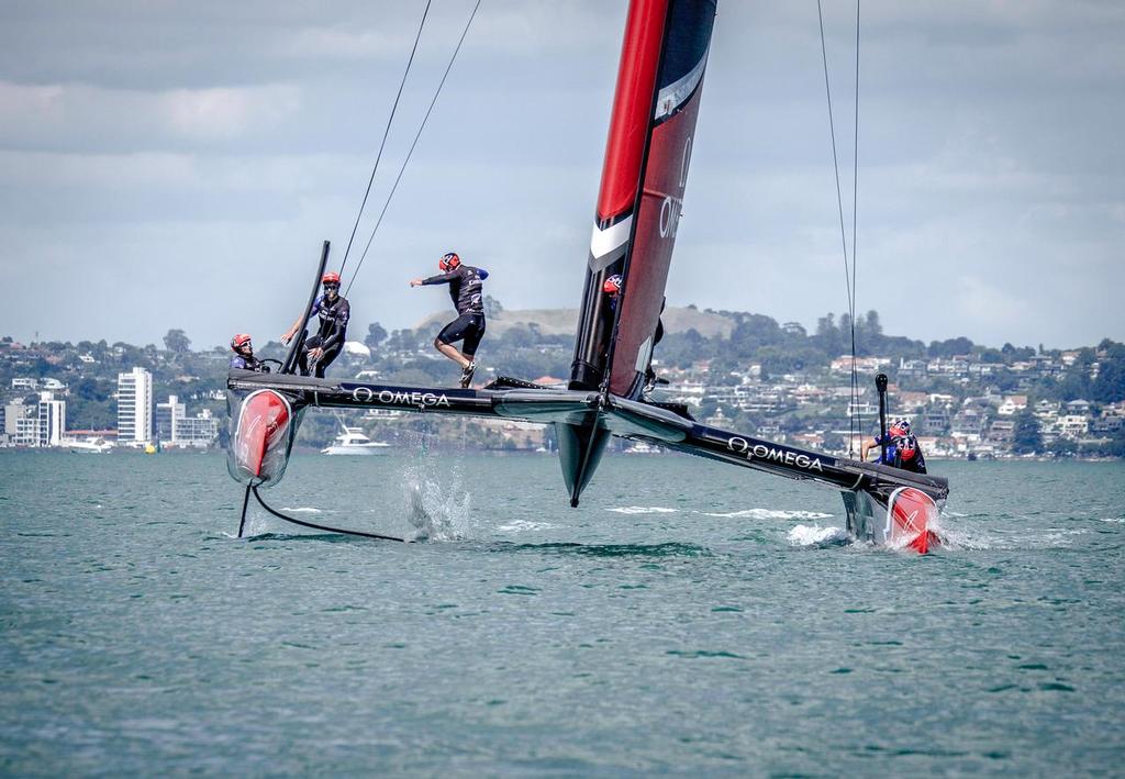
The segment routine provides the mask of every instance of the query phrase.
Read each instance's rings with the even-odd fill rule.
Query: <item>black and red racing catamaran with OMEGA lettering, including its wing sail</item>
[[[948,495],[945,478],[709,427],[685,405],[645,393],[714,16],[716,0],[630,2],[566,388],[508,377],[479,390],[310,378],[295,375],[295,343],[278,374],[230,371],[228,469],[246,485],[243,520],[251,491],[285,474],[306,409],[395,409],[554,426],[573,507],[618,436],[838,490],[858,540],[919,553],[938,540],[933,525]],[[325,242],[316,281],[327,254]],[[620,276],[618,303],[603,293],[611,276]]]

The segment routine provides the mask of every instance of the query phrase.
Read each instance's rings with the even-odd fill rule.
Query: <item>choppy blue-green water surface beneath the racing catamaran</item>
[[[0,772],[1117,773],[1125,466],[948,464],[954,548],[612,456],[0,454]]]

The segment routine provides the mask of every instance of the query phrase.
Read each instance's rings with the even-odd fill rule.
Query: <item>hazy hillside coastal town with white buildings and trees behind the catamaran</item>
[[[565,386],[572,335],[566,312],[505,312],[495,301],[487,342],[497,375]],[[1105,457],[1125,454],[1125,346],[1051,350],[981,347],[968,339],[924,344],[881,333],[878,314],[857,320],[864,353],[840,353],[850,331],[831,315],[809,334],[798,323],[741,312],[669,308],[668,337],[654,367],[655,397],[682,403],[721,429],[848,455],[878,429],[873,378],[886,374],[889,413],[904,417],[932,458]],[[493,325],[495,323],[495,325]],[[495,332],[495,334],[492,334]],[[429,344],[426,323],[349,341],[330,375],[407,386],[450,383]],[[0,340],[0,447],[105,453],[206,450],[226,441],[224,347],[194,351],[181,330],[164,348],[105,341]],[[280,356],[279,343],[261,350]],[[856,382],[853,385],[853,373]],[[664,383],[666,382],[666,384]],[[338,418],[310,414],[300,447],[320,448]],[[341,420],[343,421],[343,420]],[[405,440],[417,415],[372,409],[349,426],[375,439]],[[498,450],[550,450],[549,428],[512,420],[431,420],[439,439]],[[627,451],[650,447],[623,442]]]

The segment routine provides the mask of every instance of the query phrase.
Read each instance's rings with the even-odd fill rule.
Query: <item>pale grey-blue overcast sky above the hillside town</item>
[[[0,3],[0,334],[277,338],[321,241],[343,257],[424,5]],[[433,2],[372,217],[471,7]],[[624,12],[483,1],[353,337],[448,307],[406,283],[449,250],[505,307],[576,304]],[[1125,3],[867,0],[862,21],[858,310],[925,340],[1125,340]],[[825,25],[850,234],[854,2]],[[669,304],[814,326],[847,306],[838,218],[814,0],[720,0]]]

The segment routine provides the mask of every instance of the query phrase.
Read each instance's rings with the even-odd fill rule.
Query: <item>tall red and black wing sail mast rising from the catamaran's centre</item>
[[[570,387],[640,394],[683,206],[716,0],[631,0]],[[602,292],[620,274],[616,306]]]

